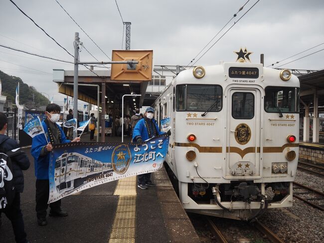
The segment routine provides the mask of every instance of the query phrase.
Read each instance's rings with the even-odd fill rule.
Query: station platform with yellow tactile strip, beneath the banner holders
[[[90,141],[84,134],[82,141]],[[129,142],[130,137],[124,137]],[[106,137],[121,142],[121,137]],[[35,177],[31,166],[24,171],[21,210],[30,243],[198,243],[199,238],[183,210],[165,169],[152,173],[156,187],[142,190],[137,178],[106,183],[62,199],[68,217],[47,216],[38,226],[35,212]],[[49,209],[48,211],[49,212]],[[14,243],[10,221],[1,215],[0,243]]]

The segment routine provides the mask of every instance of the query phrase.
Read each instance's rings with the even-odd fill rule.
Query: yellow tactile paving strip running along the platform
[[[109,243],[135,243],[136,176],[120,179],[114,195],[119,195]]]

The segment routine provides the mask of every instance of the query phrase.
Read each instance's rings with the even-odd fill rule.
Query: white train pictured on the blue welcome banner
[[[86,179],[110,173],[111,163],[102,163],[79,153],[64,153],[56,159],[54,181],[57,192],[81,186]]]

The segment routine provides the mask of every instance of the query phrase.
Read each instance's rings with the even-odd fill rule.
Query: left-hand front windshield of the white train
[[[176,86],[176,110],[220,111],[222,87],[219,85],[184,84]],[[212,106],[212,107],[211,107]]]

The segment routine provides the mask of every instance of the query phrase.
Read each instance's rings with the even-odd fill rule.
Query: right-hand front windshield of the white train
[[[299,113],[299,88],[268,86],[265,93],[266,112]]]

